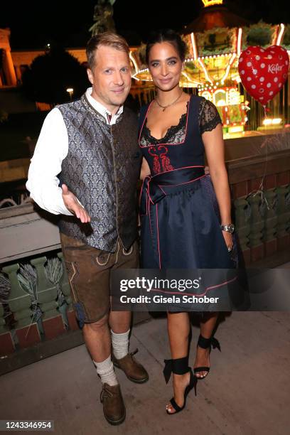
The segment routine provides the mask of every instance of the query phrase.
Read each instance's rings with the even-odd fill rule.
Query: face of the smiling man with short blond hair
[[[87,70],[92,83],[92,97],[103,104],[109,112],[115,113],[129,94],[131,68],[129,55],[107,45],[100,45],[95,51],[95,64]]]

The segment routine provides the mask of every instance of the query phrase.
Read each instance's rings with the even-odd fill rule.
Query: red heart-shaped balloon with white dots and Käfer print
[[[239,59],[242,84],[255,100],[266,105],[287,79],[289,56],[280,45],[269,48],[249,46]]]

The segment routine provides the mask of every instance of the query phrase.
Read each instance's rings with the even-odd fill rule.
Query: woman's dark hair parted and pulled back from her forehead
[[[149,63],[149,53],[151,48],[156,43],[168,42],[173,45],[176,49],[181,61],[183,62],[186,58],[186,43],[181,39],[175,31],[170,28],[163,28],[159,31],[152,31],[149,35],[147,45],[146,45],[146,63]]]

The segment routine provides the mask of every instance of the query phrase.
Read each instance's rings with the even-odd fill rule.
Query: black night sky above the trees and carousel
[[[43,48],[48,42],[65,47],[83,47],[90,38],[88,28],[96,0],[83,0],[80,4],[68,0],[6,1],[1,5],[0,28],[11,29],[11,48]],[[227,0],[228,8],[257,22],[289,23],[289,0]],[[174,6],[178,5],[178,6]],[[198,16],[203,7],[201,0],[132,1],[117,0],[114,4],[114,21],[117,31],[131,45],[146,41],[153,28],[180,30]]]

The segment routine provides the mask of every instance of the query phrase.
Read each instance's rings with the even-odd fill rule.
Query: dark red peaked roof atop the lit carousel
[[[249,21],[230,12],[223,4],[209,6],[201,9],[198,18],[184,27],[183,34],[191,32],[204,32],[215,27],[242,27],[249,26]]]

